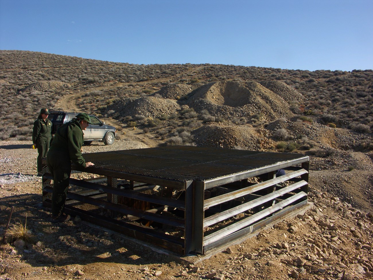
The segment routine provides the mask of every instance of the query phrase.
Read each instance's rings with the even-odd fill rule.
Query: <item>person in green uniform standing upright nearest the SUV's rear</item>
[[[47,119],[49,115],[48,109],[43,108],[40,110],[40,115],[34,122],[34,128],[32,129],[32,143],[38,149],[38,159],[36,161],[38,168],[38,176],[41,175],[41,160],[47,156],[47,152],[50,145],[50,139],[52,137],[52,122]]]

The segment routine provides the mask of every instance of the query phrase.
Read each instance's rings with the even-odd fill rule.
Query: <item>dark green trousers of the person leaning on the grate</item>
[[[58,217],[65,208],[71,162],[69,157],[66,158],[66,155],[50,151],[47,154],[47,165],[53,176],[52,215]]]

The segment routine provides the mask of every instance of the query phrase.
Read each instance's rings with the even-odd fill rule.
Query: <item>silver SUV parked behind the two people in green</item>
[[[50,111],[48,119],[52,122],[52,139],[61,125],[71,121],[78,113],[68,113],[63,111]],[[101,141],[105,145],[114,143],[116,129],[111,125],[101,122],[97,116],[90,115],[91,123],[84,131],[84,144],[90,145],[92,141]]]

